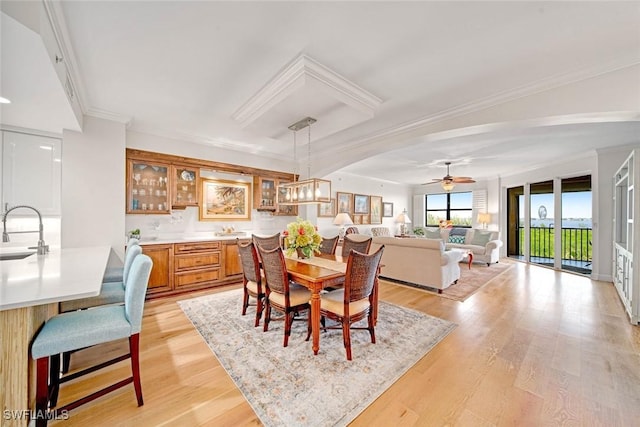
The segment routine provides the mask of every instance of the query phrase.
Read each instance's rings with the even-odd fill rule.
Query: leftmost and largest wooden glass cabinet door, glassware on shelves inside
[[[169,213],[169,165],[130,159],[127,162],[127,213]]]

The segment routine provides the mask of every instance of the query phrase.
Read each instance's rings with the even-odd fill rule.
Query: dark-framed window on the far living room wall
[[[441,220],[450,220],[458,227],[471,227],[473,193],[440,193],[425,196],[427,226],[438,226]]]

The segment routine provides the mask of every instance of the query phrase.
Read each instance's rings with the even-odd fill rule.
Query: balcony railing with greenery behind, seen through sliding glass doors
[[[530,227],[529,228],[530,249],[529,255],[532,259],[549,261],[553,264],[555,257],[553,227]],[[562,253],[563,265],[577,266],[588,271],[591,270],[591,228],[562,228]],[[524,227],[518,227],[517,236],[519,238],[518,248],[520,256],[524,255]],[[536,261],[538,262],[538,261]]]

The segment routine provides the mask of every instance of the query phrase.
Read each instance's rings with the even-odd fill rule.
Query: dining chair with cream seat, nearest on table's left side
[[[307,339],[311,335],[311,292],[302,285],[289,282],[287,264],[281,248],[266,250],[258,246],[262,258],[262,269],[266,279],[264,331],[269,330],[271,310],[284,313],[284,344],[289,344],[291,326],[297,314],[307,311]]]

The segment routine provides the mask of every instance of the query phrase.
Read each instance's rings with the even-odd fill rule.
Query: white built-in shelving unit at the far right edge
[[[634,222],[640,203],[635,197],[639,162],[640,150],[634,150],[613,177],[613,283],[634,324],[640,321],[640,279],[633,268],[640,258],[640,222]]]

